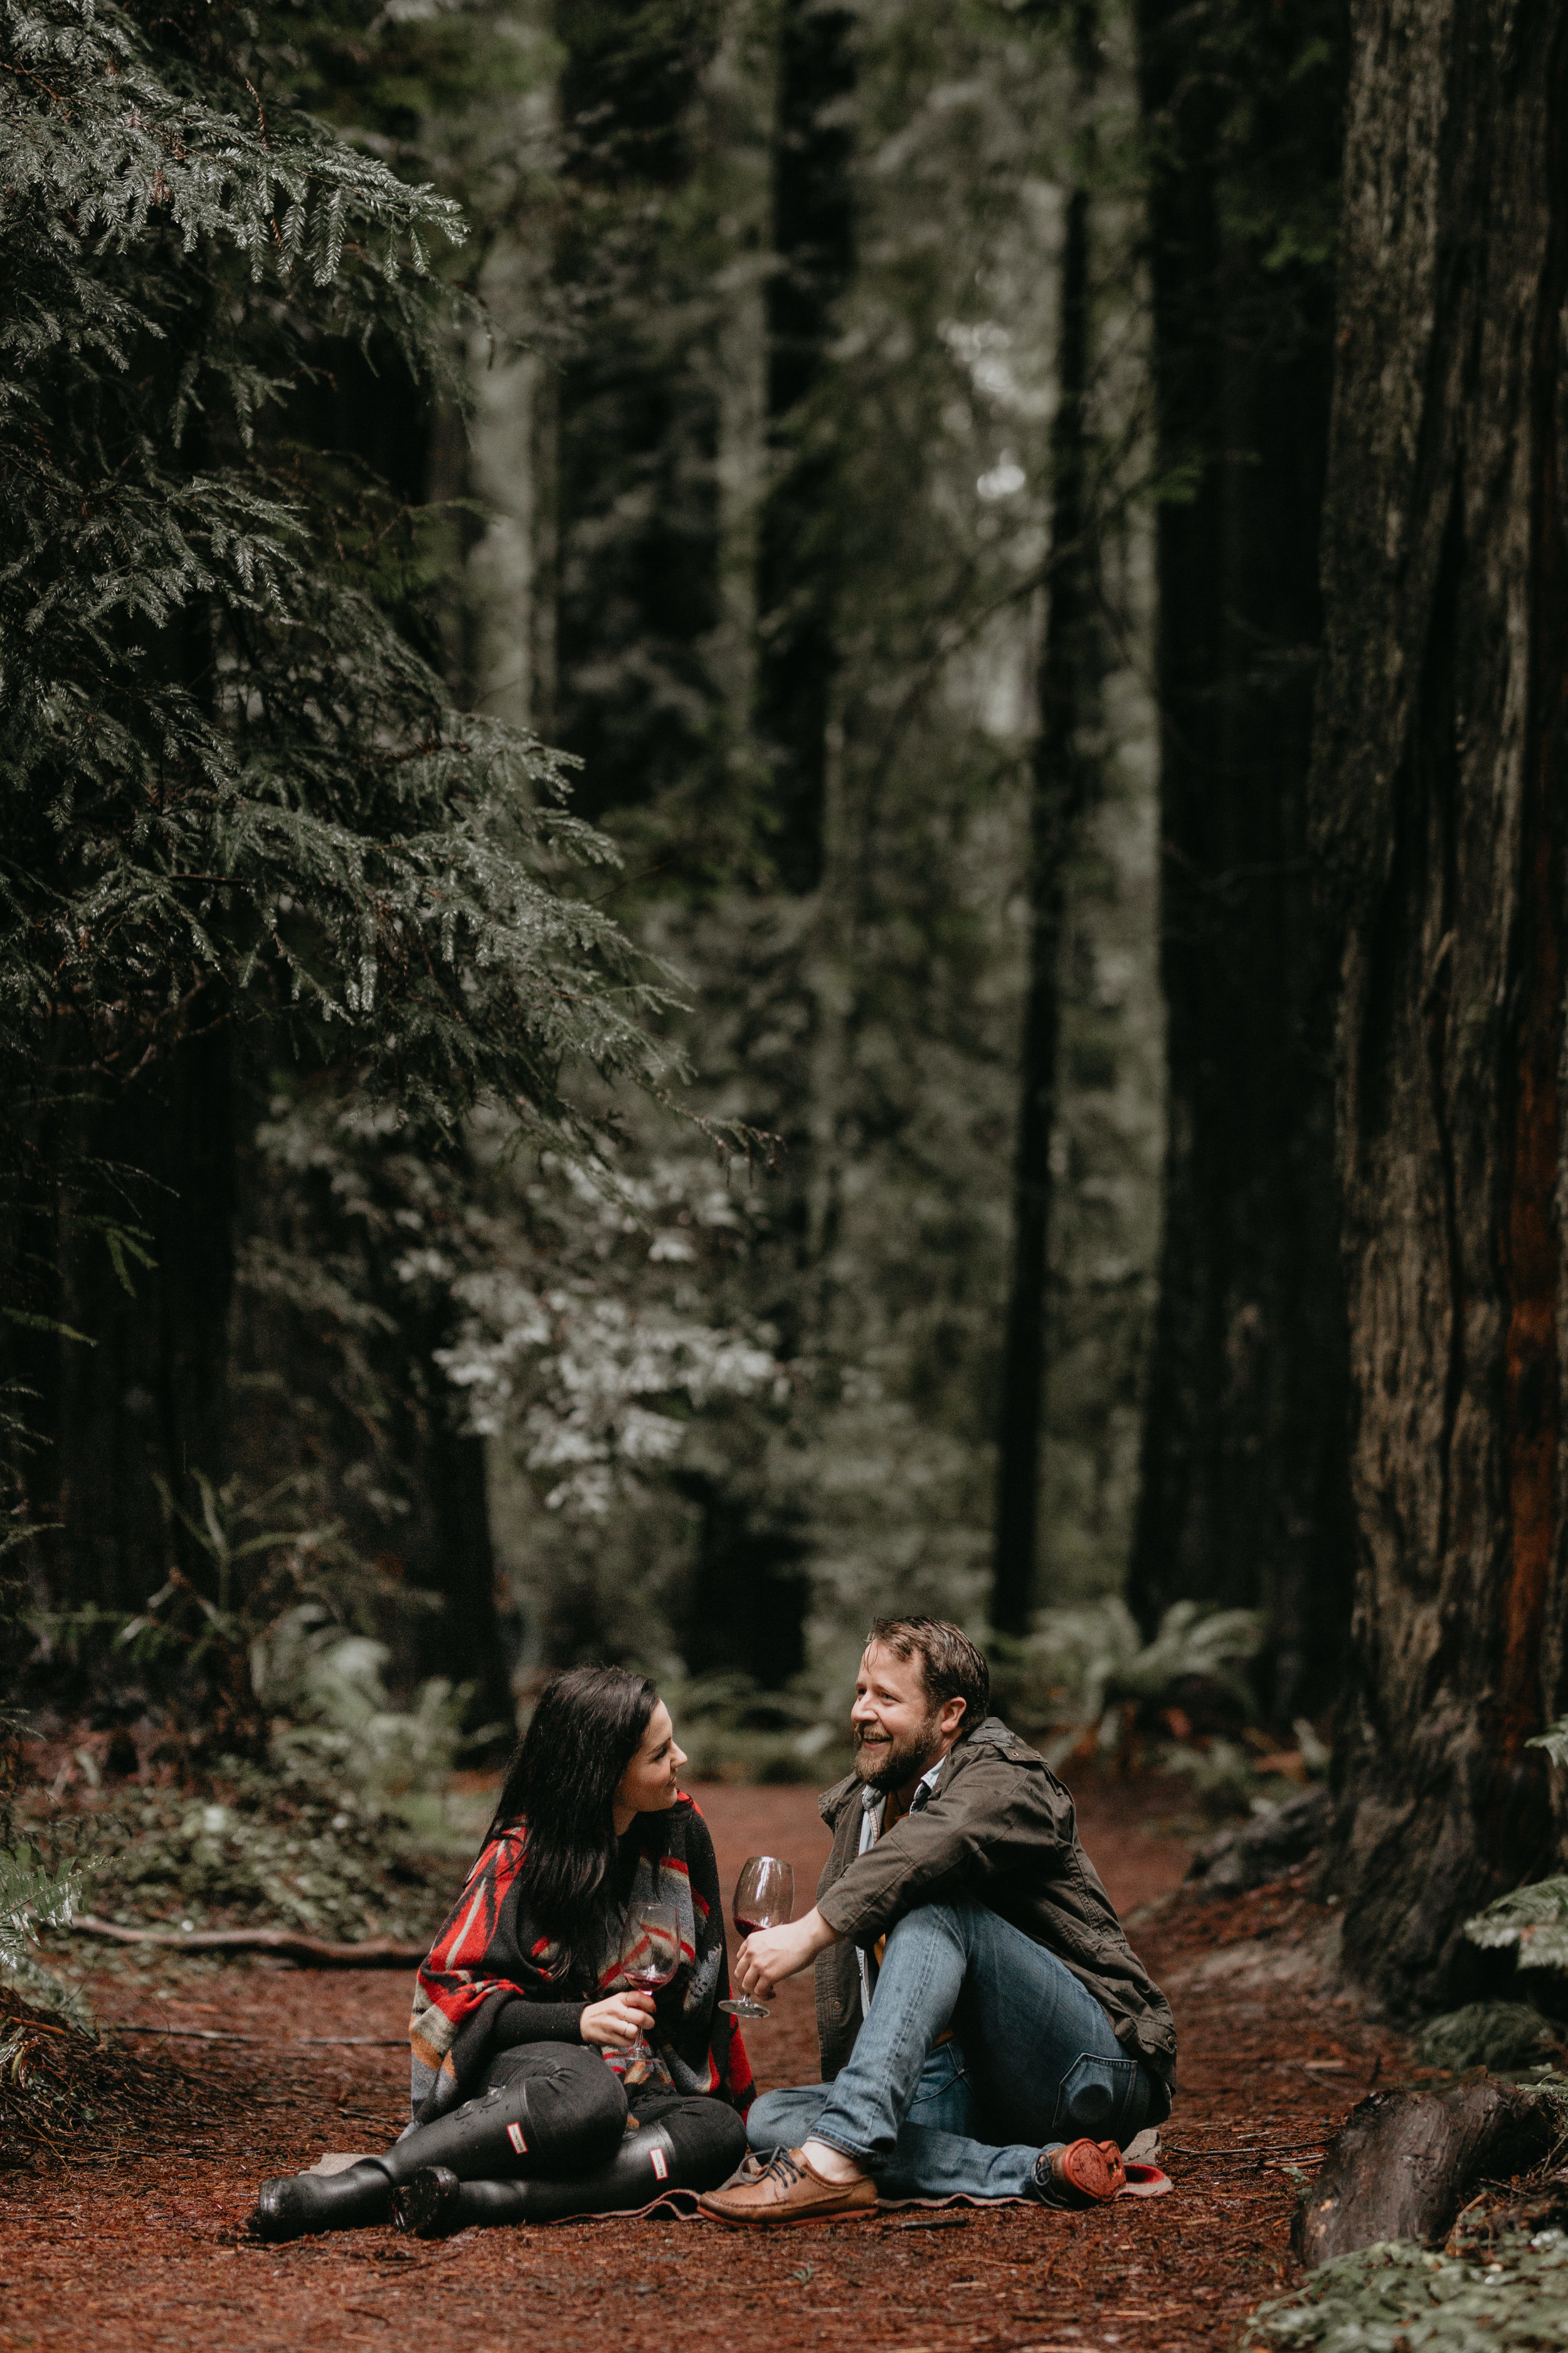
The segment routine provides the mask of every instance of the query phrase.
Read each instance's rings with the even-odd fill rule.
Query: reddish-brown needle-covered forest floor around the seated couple
[[[726,1887],[755,1852],[788,1854],[802,1885],[816,1880],[825,1833],[811,1791],[696,1795]],[[520,2337],[590,2353],[623,2339],[654,2353],[745,2339],[769,2353],[1229,2346],[1244,2313],[1300,2275],[1293,2167],[1312,2167],[1399,2047],[1324,1991],[1333,1913],[1295,1882],[1225,1901],[1175,1894],[1190,1847],[1159,1819],[1171,1802],[1135,1781],[1079,1788],[1084,1842],[1175,2007],[1166,2198],[1093,2214],[893,2212],[771,2235],[581,2221],[444,2242],[357,2231],[252,2247],[244,2221],[266,2174],[381,2148],[402,2127],[407,1977],[115,1953],[89,1984],[99,2019],[179,2031],[125,2040],[148,2066],[200,2082],[202,2125],[176,2146],[87,2141],[47,2177],[0,2179],[0,2348],[503,2353]],[[212,2031],[259,2040],[195,2040]],[[378,2040],[292,2047],[308,2035]],[[780,1988],[748,2040],[764,2087],[816,2080],[809,1979]]]

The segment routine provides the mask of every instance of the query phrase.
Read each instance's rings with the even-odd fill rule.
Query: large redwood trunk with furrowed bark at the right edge
[[[1563,14],[1359,0],[1314,819],[1342,925],[1347,1958],[1446,2000],[1561,1704]]]

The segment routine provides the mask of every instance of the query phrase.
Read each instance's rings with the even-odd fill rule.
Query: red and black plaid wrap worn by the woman
[[[597,1991],[609,1993],[630,1960],[628,1920],[637,1904],[672,1904],[679,1915],[682,1965],[654,1995],[649,2033],[654,2073],[628,2073],[621,2052],[604,2052],[616,2073],[672,2092],[717,2092],[743,2115],[752,2104],[752,2066],[736,2019],[719,2009],[729,1995],[724,1904],[712,1838],[691,1798],[658,1817],[663,1852],[639,1854],[628,1911],[611,1920]],[[559,1979],[559,1948],[538,1925],[520,1918],[517,1871],[527,1824],[501,1831],[473,1866],[468,1885],[435,1939],[414,1986],[409,2019],[416,2125],[473,2099],[482,2082],[484,2045],[496,2009],[522,1995],[536,2002],[571,2000]]]

